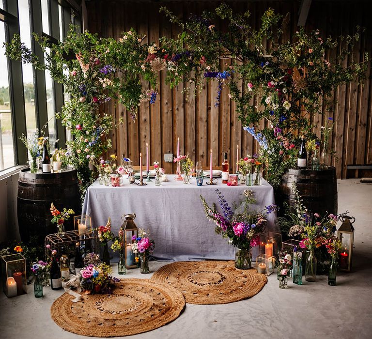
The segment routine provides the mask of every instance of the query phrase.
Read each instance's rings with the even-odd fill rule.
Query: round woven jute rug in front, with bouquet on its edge
[[[64,330],[89,337],[122,337],[151,331],[176,319],[185,307],[179,291],[149,279],[122,279],[113,294],[64,293],[54,301],[52,319]]]

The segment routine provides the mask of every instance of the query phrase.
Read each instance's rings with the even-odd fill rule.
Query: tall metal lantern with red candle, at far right
[[[353,219],[353,221],[351,221]],[[342,271],[350,271],[353,256],[355,217],[341,216],[342,224],[337,230],[337,237],[341,242],[339,267]]]

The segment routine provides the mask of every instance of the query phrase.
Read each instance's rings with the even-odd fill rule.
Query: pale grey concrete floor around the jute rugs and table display
[[[263,290],[248,300],[226,305],[189,305],[170,324],[126,338],[230,339],[230,338],[371,338],[372,302],[372,185],[357,179],[338,180],[339,213],[355,216],[355,252],[352,273],[340,273],[337,286],[327,277],[280,290],[275,275]],[[165,263],[150,262],[155,271]],[[146,276],[146,278],[151,275]],[[126,277],[142,278],[139,269]],[[77,339],[50,318],[52,302],[61,291],[44,289],[36,299],[29,294],[7,299],[0,293],[0,338]]]

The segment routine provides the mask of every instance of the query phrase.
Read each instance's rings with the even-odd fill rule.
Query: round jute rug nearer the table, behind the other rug
[[[182,292],[189,304],[227,304],[252,297],[267,282],[255,269],[239,270],[233,261],[172,262],[151,278]]]

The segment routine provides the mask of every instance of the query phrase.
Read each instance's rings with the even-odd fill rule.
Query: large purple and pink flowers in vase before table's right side
[[[210,207],[205,199],[200,196],[207,218],[217,225],[215,231],[223,238],[229,239],[229,244],[239,249],[250,249],[260,243],[260,234],[265,231],[266,217],[276,211],[276,205],[266,206],[262,211],[251,211],[251,204],[255,203],[254,193],[251,190],[244,190],[244,200],[240,208],[235,211],[229,206],[221,191],[216,189],[221,212],[217,211],[214,203]]]

